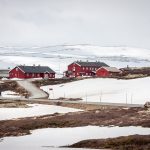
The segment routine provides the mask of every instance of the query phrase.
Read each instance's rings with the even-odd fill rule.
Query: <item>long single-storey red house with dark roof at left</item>
[[[16,66],[9,71],[9,78],[55,78],[55,72],[47,66]]]

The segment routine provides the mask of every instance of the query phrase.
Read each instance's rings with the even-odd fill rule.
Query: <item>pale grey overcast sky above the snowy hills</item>
[[[0,45],[150,49],[150,0],[0,0]]]

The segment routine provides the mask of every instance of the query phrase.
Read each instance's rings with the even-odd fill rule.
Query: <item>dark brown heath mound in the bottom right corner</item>
[[[68,147],[72,148],[109,148],[114,150],[149,150],[150,135],[131,135],[126,137],[84,140]]]

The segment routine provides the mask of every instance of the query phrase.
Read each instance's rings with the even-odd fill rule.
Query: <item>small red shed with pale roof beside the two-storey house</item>
[[[96,70],[97,77],[111,77],[119,75],[121,71],[116,67],[101,67]]]

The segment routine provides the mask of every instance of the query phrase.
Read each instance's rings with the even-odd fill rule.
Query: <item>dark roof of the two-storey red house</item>
[[[83,66],[83,67],[102,67],[102,66],[105,66],[105,67],[109,67],[107,64],[103,63],[103,62],[100,62],[100,61],[96,61],[96,62],[89,62],[89,61],[76,61],[74,63],[77,63],[79,64],[80,66]]]

